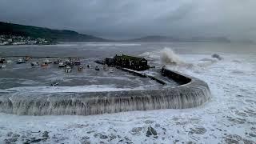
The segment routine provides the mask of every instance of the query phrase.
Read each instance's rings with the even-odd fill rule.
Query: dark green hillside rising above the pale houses
[[[92,35],[78,34],[72,30],[52,30],[36,26],[24,26],[0,22],[0,34],[13,34],[31,38],[46,38],[53,42],[107,42]]]

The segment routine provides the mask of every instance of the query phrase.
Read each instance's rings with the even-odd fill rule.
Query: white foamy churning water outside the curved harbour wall
[[[0,143],[10,138],[16,142],[41,138],[48,143],[255,143],[254,54],[218,53],[222,60],[211,54],[177,54],[175,50],[174,54],[189,65],[171,64],[170,69],[201,78],[210,86],[212,98],[204,106],[91,116],[0,114]],[[161,65],[161,50],[142,55]],[[157,136],[146,136],[149,126]]]

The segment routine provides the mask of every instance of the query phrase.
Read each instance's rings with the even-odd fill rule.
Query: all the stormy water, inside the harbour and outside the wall
[[[86,42],[0,47],[0,57],[10,57],[13,62],[26,55],[79,57],[84,62],[93,62],[94,59],[113,57],[115,54],[143,57],[150,66],[166,65],[170,70],[199,78],[210,87],[210,101],[182,110],[130,111],[88,116],[0,113],[0,143],[256,143],[254,44]],[[50,69],[55,70],[54,67]],[[15,63],[6,64],[5,68],[0,69],[0,92],[15,91],[14,94],[25,95],[24,98],[27,94],[27,98],[30,98],[31,91],[51,93],[56,90],[84,92],[158,88],[157,83],[121,72],[108,76],[113,81],[102,80],[104,74],[89,74],[87,79],[81,81],[84,74],[65,75],[58,69],[49,71],[40,69],[35,72],[22,65],[16,66]],[[63,85],[60,83],[54,88],[47,86],[54,81],[62,82]],[[74,86],[77,83],[79,85]],[[170,83],[175,86],[174,82]],[[0,95],[2,97],[4,95]]]

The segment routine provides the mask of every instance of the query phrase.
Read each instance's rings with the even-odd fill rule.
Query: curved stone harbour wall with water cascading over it
[[[129,90],[88,93],[0,93],[0,112],[9,114],[104,114],[132,110],[185,109],[200,106],[210,98],[206,82],[171,70],[163,75],[180,86],[160,90]]]

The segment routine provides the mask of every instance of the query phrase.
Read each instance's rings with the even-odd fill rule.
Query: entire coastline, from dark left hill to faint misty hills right
[[[0,46],[56,45],[59,42],[244,42],[254,43],[250,39],[231,41],[223,36],[176,38],[150,35],[141,38],[110,40],[88,34],[79,34],[72,30],[52,30],[37,26],[25,26],[0,22]]]

